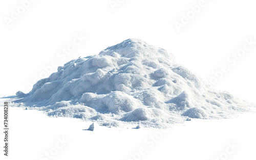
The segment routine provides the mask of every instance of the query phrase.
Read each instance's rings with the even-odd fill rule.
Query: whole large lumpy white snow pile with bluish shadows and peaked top
[[[168,51],[128,39],[58,67],[14,102],[50,116],[97,121],[105,126],[166,127],[189,118],[229,118],[252,105],[216,91],[179,65]]]

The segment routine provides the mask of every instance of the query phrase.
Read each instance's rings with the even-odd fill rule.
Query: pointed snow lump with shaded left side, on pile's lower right
[[[183,91],[181,94],[179,94],[177,97],[174,97],[167,101],[166,103],[173,103],[174,106],[170,108],[170,110],[178,110],[182,111],[184,109],[190,108],[190,100],[188,98],[188,93],[186,91]]]

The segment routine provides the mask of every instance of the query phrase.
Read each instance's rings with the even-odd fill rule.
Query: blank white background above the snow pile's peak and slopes
[[[23,0],[25,1],[25,0]],[[0,97],[28,93],[43,66],[58,65],[78,57],[98,54],[108,46],[128,38],[139,38],[174,54],[177,61],[206,81],[212,71],[226,65],[213,87],[255,102],[255,51],[247,51],[236,65],[226,58],[243,48],[245,39],[256,41],[255,2],[251,0],[205,0],[205,7],[177,31],[175,21],[200,1],[129,1],[114,9],[109,0],[35,1],[14,22],[6,23],[19,1],[0,2]],[[73,42],[75,34],[87,39],[62,60],[57,52]],[[52,72],[57,71],[53,68]],[[48,74],[47,76],[49,76]]]

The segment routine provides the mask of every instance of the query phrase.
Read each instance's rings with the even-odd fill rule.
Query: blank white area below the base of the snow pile
[[[256,159],[256,113],[236,119],[195,119],[164,130],[95,125],[94,131],[87,131],[83,129],[91,123],[79,119],[52,118],[15,107],[9,111],[10,152],[0,159]],[[4,137],[2,131],[0,136]],[[236,147],[230,148],[233,143]]]

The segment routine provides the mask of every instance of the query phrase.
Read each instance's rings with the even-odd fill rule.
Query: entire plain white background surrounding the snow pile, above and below
[[[183,14],[191,13],[190,6],[198,5],[199,0],[113,0],[119,2],[114,9],[110,2],[34,0],[23,14],[7,23],[6,18],[11,18],[13,10],[22,5],[18,0],[0,1],[0,97],[15,95],[17,91],[28,93],[28,84],[34,84],[36,77],[45,73],[43,67],[49,68],[54,61],[61,66],[80,56],[96,55],[128,38],[139,38],[172,52],[179,63],[206,81],[214,76],[212,72],[228,66],[229,71],[213,87],[256,102],[256,45],[236,65],[227,61],[243,48],[245,39],[256,41],[256,2],[205,0],[205,7],[180,32],[174,23],[181,22]],[[57,52],[72,44],[76,34],[87,39],[66,58],[58,56]],[[57,71],[56,67],[52,69],[51,72]],[[143,141],[148,135],[159,131],[97,126],[89,132],[82,129],[90,123],[77,119],[54,119],[16,108],[10,108],[9,115],[11,142],[6,159],[39,159],[62,136],[69,144],[54,159],[131,159],[131,153],[147,147]],[[147,150],[143,159],[212,159],[226,151],[227,142],[232,141],[239,149],[228,159],[255,159],[254,115],[176,125],[156,147]],[[0,137],[4,137],[3,131]]]

